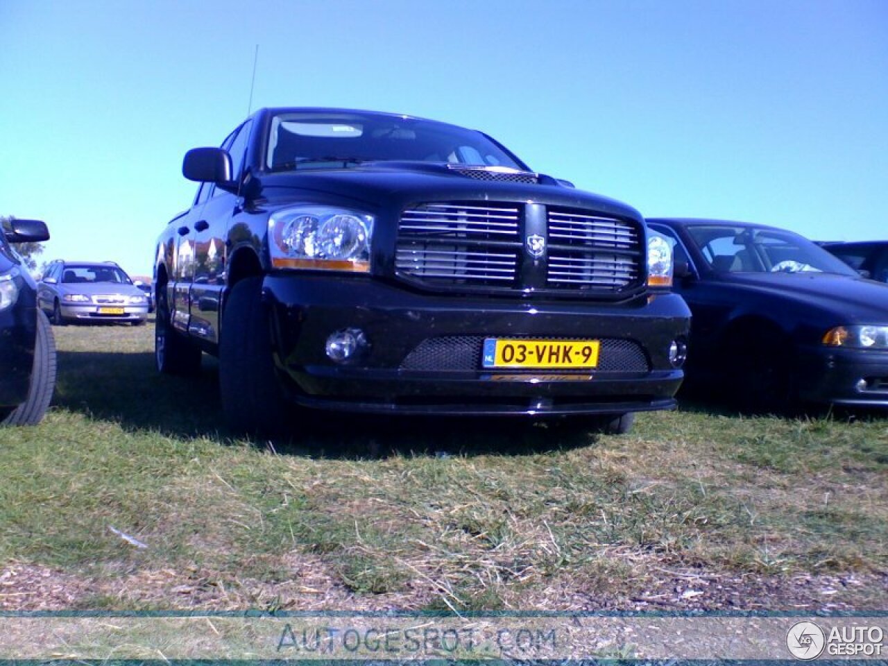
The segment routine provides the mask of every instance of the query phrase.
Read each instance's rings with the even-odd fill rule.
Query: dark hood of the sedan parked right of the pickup
[[[888,285],[831,273],[732,273],[721,280],[741,289],[792,299],[812,310],[844,315],[847,323],[888,323]]]

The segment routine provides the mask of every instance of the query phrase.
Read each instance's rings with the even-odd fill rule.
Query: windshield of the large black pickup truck
[[[266,169],[342,169],[361,162],[410,161],[523,170],[479,131],[432,121],[374,114],[275,115]]]

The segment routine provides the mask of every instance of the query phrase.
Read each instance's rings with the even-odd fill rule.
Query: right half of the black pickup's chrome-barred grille
[[[640,230],[585,210],[551,208],[546,283],[554,289],[616,291],[641,277]]]

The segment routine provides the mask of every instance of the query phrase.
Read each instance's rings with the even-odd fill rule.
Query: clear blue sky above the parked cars
[[[888,237],[884,0],[0,0],[0,215],[149,274],[195,146],[253,108],[487,131],[649,217]]]

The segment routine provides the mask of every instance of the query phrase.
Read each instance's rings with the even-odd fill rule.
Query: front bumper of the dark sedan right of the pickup
[[[805,346],[797,369],[801,400],[888,408],[888,350]]]

